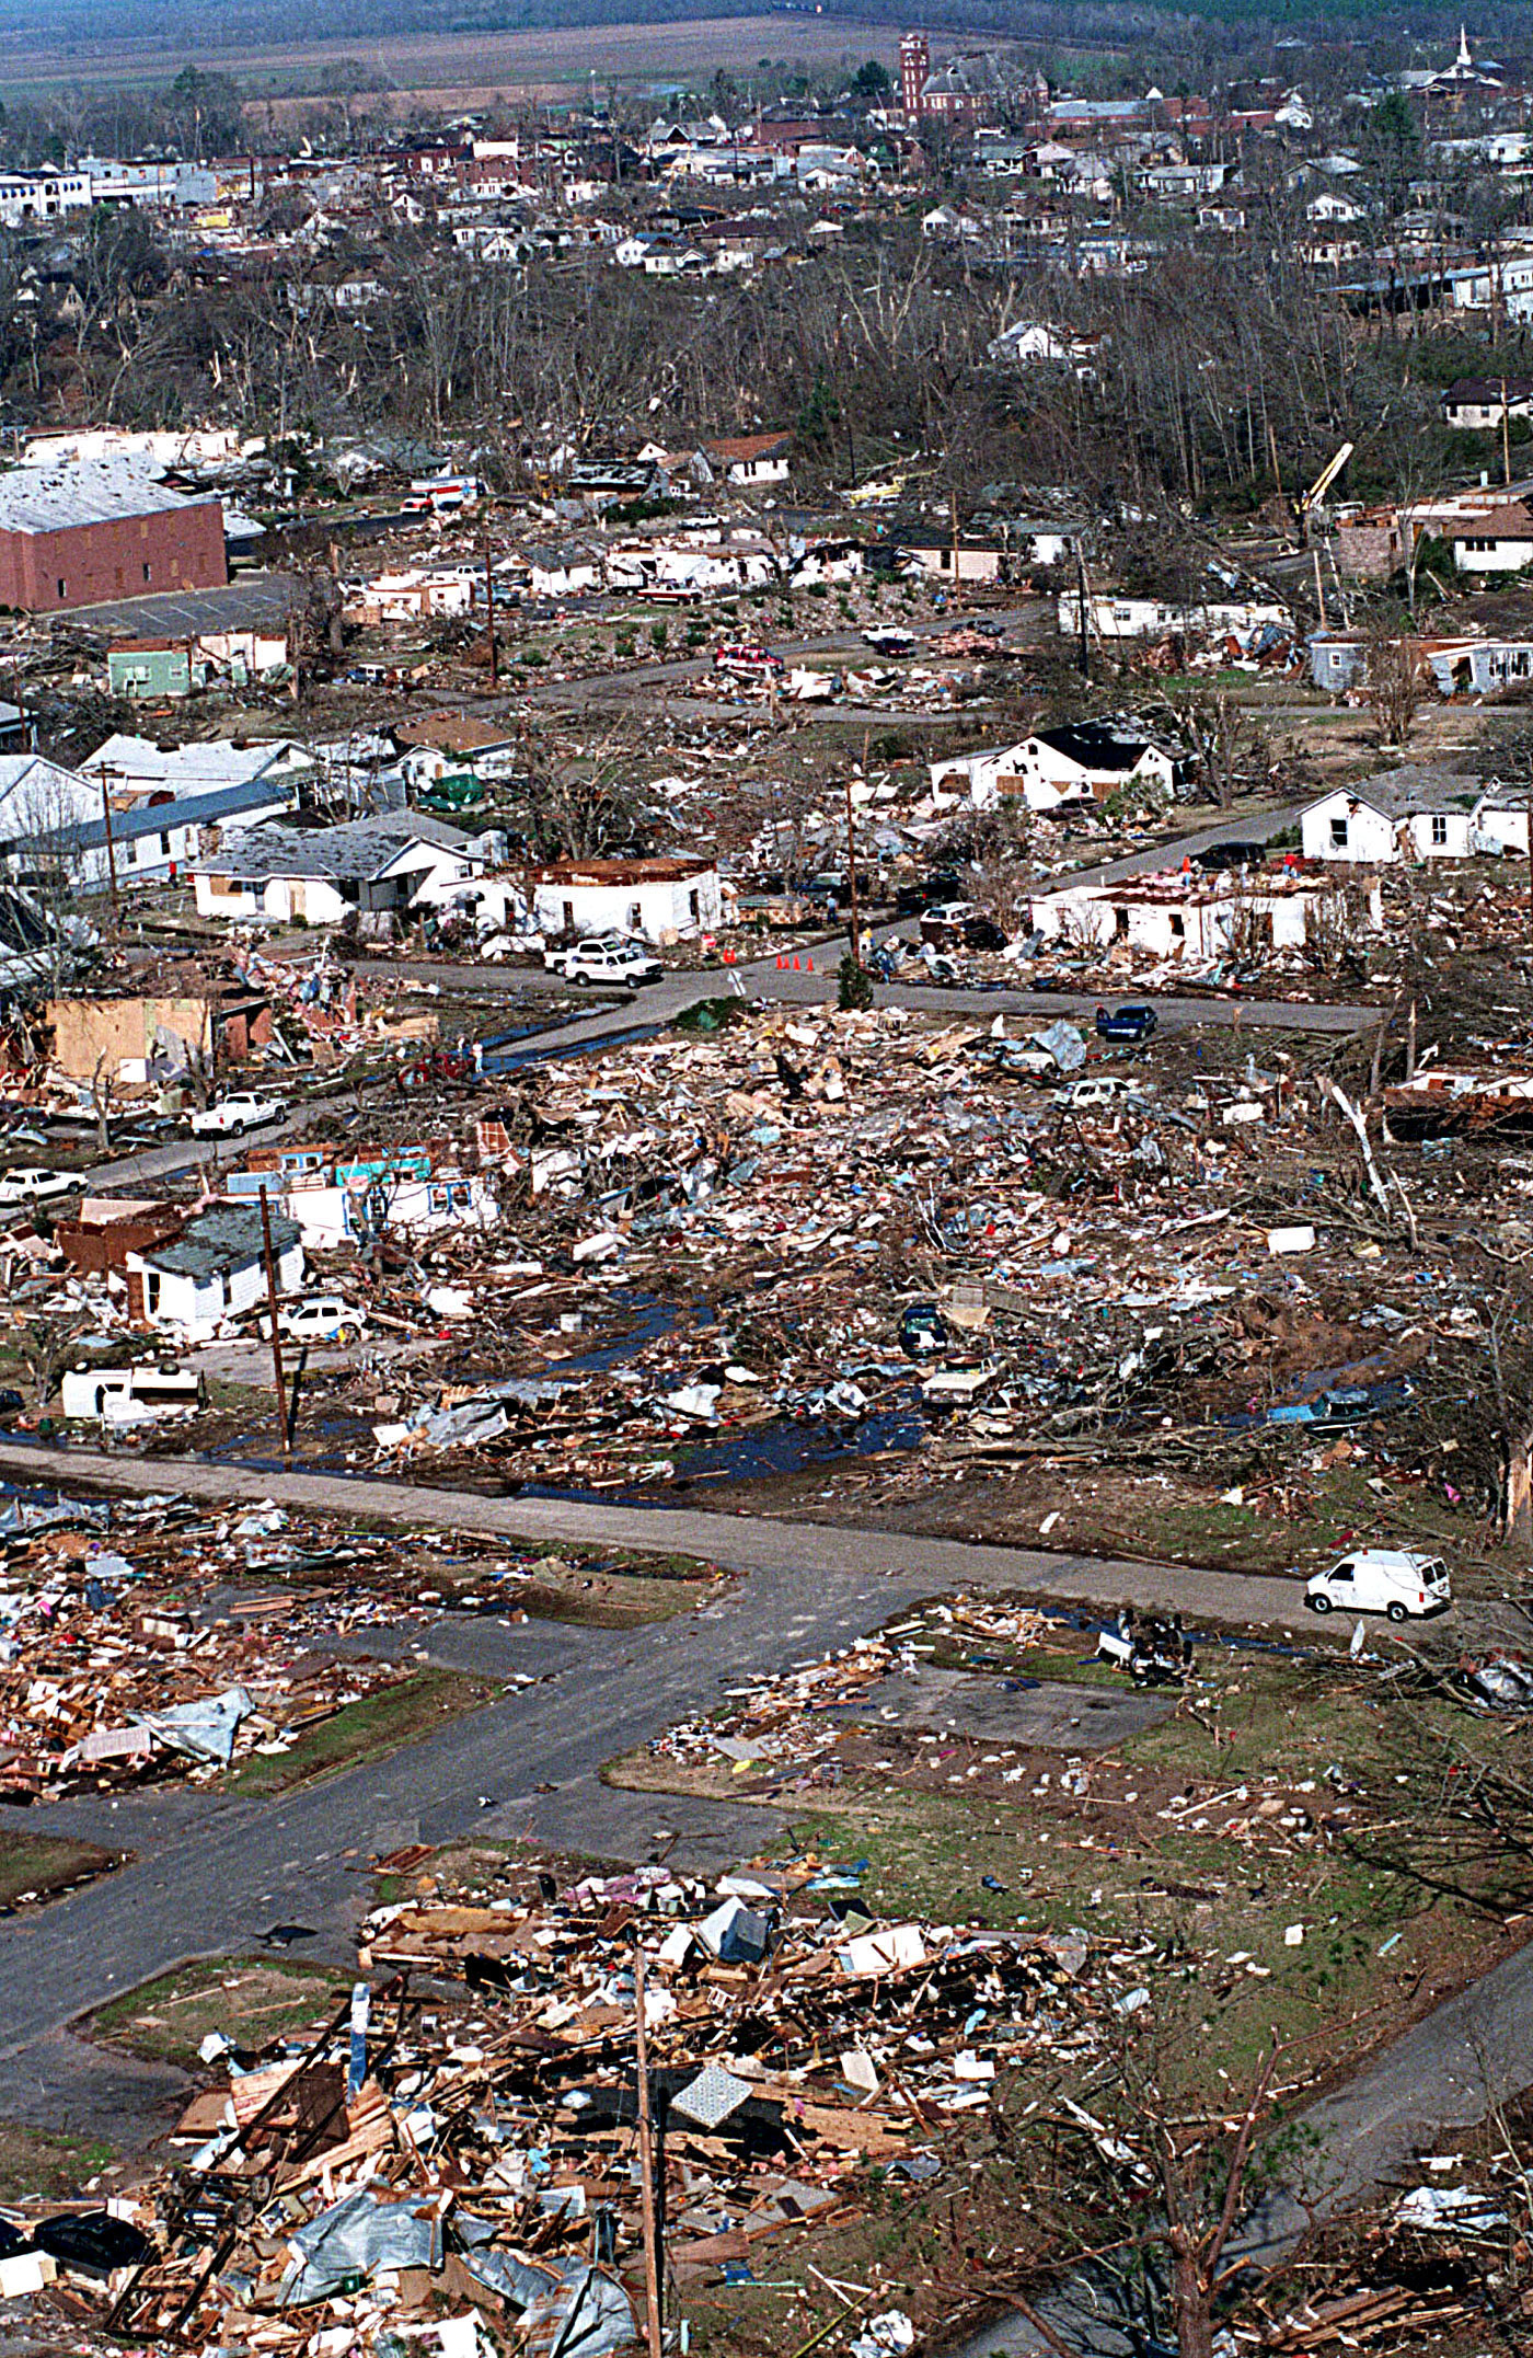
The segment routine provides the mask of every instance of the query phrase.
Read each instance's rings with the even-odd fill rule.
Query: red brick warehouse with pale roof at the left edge
[[[123,467],[0,474],[0,606],[66,613],[229,580],[222,500]]]

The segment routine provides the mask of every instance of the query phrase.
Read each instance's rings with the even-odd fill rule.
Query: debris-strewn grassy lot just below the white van
[[[986,1646],[993,1677],[1118,1686],[1068,1632],[1016,1653]],[[932,1632],[934,1669],[965,1667],[974,1644]],[[934,1714],[941,1721],[941,1707]],[[677,1766],[651,1752],[608,1768],[620,1785],[686,1790],[788,1811],[766,1856],[783,1865],[866,1858],[861,1898],[880,1917],[983,1922],[1042,1934],[1085,1929],[1141,1945],[1146,1959],[1196,1964],[1189,2082],[1217,2063],[1233,2080],[1276,2033],[1295,2080],[1344,2075],[1439,1997],[1519,1945],[1507,1863],[1427,1877],[1432,1799],[1448,1759],[1481,1750],[1524,1773],[1533,1731],[1481,1721],[1448,1702],[1406,1702],[1344,1658],[1208,1646],[1196,1684],[1158,1726],[1085,1757],[1085,1792],[1061,1787],[1066,1754],[960,1733],[847,1726],[818,1776],[757,1761],[748,1773]],[[1361,1787],[1361,1797],[1358,1790]],[[1399,1794],[1399,1799],[1396,1799]],[[1396,1849],[1370,1827],[1394,1813]],[[1368,1839],[1356,1839],[1368,1835]],[[1465,1844],[1465,1853],[1474,1844]],[[1156,1971],[1146,1964],[1156,1981]]]

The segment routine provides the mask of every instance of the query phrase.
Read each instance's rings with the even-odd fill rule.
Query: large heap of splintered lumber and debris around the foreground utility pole
[[[856,2217],[870,2169],[941,2176],[1014,2066],[1106,2044],[1134,1962],[875,1922],[844,1882],[642,1868],[559,1891],[538,1870],[526,1898],[375,1910],[361,1957],[387,1978],[262,2054],[210,2037],[182,2165],[113,2205],[111,2266],[68,2266],[52,2299],[134,2341],[616,2349],[642,2301],[642,2113],[667,2285],[750,2283],[771,2240]]]

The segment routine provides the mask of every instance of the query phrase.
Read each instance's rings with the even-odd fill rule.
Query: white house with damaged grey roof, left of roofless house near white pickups
[[[420,811],[380,811],[344,828],[250,828],[191,863],[200,917],[340,924],[349,915],[446,905],[483,856]]]

